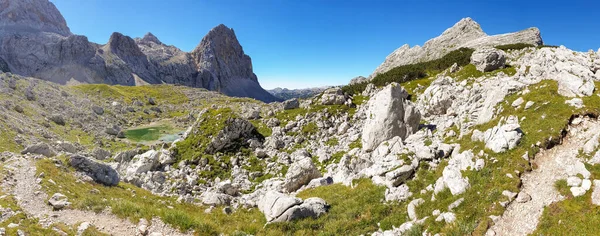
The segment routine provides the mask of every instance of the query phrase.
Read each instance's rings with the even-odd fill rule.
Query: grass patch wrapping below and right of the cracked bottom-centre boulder
[[[317,219],[269,224],[266,235],[360,235],[408,220],[402,203],[382,204],[385,187],[375,186],[369,179],[356,181],[354,188],[341,184],[305,190],[298,197],[320,197],[330,206],[329,212]]]

